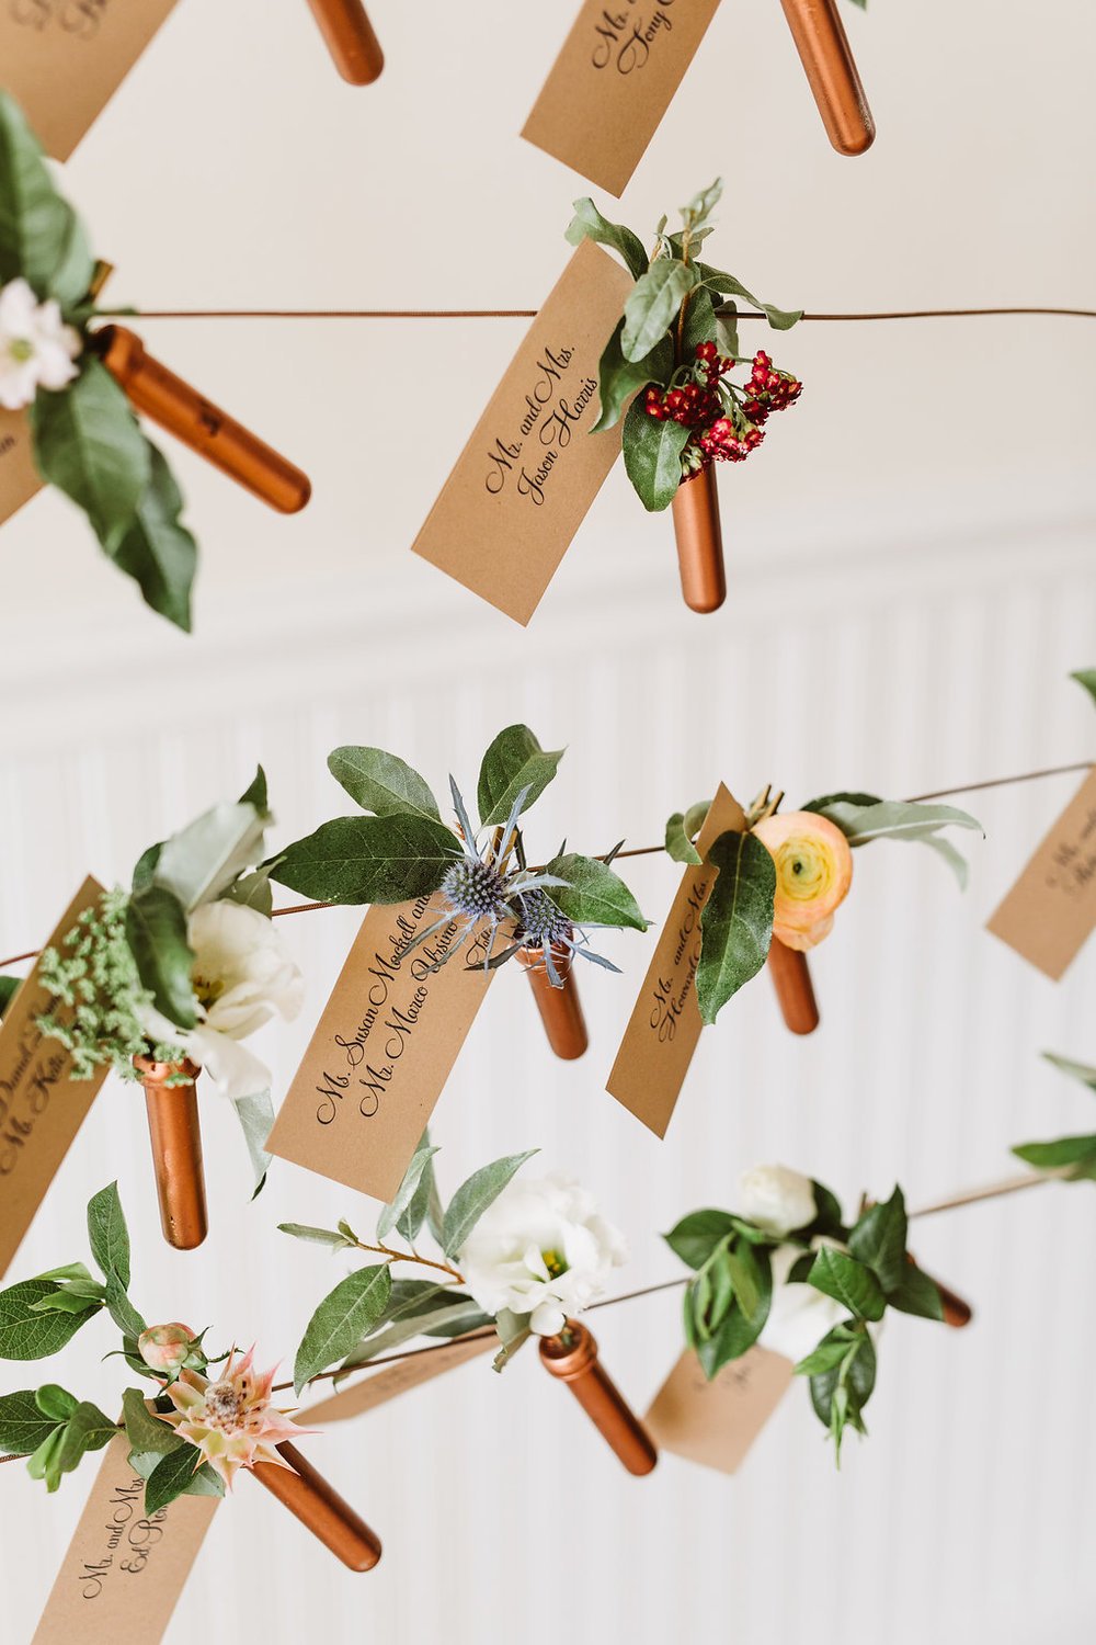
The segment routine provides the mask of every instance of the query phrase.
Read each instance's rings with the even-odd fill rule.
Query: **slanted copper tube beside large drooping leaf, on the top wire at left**
[[[307,474],[146,354],[135,332],[107,326],[95,332],[95,344],[138,411],[271,508],[281,513],[304,508],[312,495]]]

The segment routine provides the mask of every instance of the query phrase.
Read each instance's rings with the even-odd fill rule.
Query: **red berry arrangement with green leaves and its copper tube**
[[[776,331],[802,311],[759,303],[735,275],[700,260],[713,232],[711,188],[682,207],[682,229],[656,229],[647,257],[631,229],[606,222],[593,201],[575,201],[572,245],[596,240],[619,253],[636,285],[598,368],[601,413],[593,433],[621,418],[624,467],[647,510],[674,505],[682,595],[690,610],[713,612],[726,597],[716,462],[744,462],[766,436],[774,411],[795,405],[802,383],[759,349],[743,383],[735,298],[761,309]]]

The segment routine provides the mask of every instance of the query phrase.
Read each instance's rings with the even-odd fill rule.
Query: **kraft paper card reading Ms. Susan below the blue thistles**
[[[266,1142],[335,1183],[393,1199],[465,1035],[496,975],[475,938],[439,971],[457,923],[409,946],[440,916],[437,898],[375,906]]]

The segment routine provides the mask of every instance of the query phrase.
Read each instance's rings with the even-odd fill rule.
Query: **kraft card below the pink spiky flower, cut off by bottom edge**
[[[156,1645],[220,1497],[176,1497],[145,1515],[145,1480],[112,1439],[33,1645]]]

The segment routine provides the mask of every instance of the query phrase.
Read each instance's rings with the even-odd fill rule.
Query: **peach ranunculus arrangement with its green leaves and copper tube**
[[[708,801],[675,811],[665,824],[665,849],[675,862],[707,860],[718,869],[700,915],[702,949],[697,1002],[705,1023],[769,964],[785,1025],[813,1033],[818,1005],[807,954],[830,936],[836,910],[853,885],[853,850],[873,839],[920,841],[966,887],[966,862],[942,836],[945,827],[981,832],[955,806],[836,793],[782,813],[784,795],[767,786],[746,813],[746,831],[728,829],[702,859],[695,837]]]

